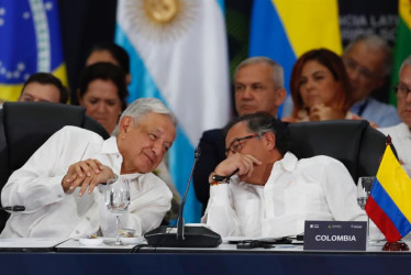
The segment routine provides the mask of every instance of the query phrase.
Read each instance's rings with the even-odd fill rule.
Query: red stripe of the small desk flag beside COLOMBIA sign
[[[401,234],[398,232],[396,226],[392,223],[386,212],[377,205],[371,196],[368,197],[365,211],[374,223],[384,233],[388,242],[397,242],[401,240]]]

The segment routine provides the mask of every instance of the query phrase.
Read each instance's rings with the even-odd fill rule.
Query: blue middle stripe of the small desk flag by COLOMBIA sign
[[[411,230],[411,224],[408,219],[403,216],[401,210],[397,207],[396,202],[384,189],[381,184],[376,178],[371,190],[371,197],[377,205],[385,211],[390,218],[397,230],[402,237],[404,237]]]

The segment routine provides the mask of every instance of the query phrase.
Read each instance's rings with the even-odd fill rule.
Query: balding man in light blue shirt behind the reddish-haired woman
[[[377,35],[359,35],[348,44],[343,61],[353,88],[353,106],[349,109],[378,127],[391,127],[400,122],[393,106],[370,97],[382,87],[391,70],[391,51]]]

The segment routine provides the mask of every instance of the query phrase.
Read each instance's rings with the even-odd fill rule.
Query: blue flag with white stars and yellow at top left
[[[18,100],[37,72],[67,84],[57,0],[0,0],[0,99]]]

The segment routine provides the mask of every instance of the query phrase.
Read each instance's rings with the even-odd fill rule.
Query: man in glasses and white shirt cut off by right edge
[[[397,92],[398,116],[400,116],[402,122],[398,125],[379,130],[391,136],[400,163],[411,177],[411,55],[402,62],[399,79],[400,81],[395,89]]]

